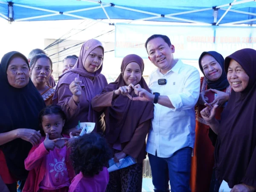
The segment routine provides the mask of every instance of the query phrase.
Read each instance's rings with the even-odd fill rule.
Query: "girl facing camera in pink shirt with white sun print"
[[[58,106],[48,106],[40,112],[39,119],[45,137],[31,149],[25,160],[29,176],[23,192],[68,192],[75,173],[69,161],[68,142],[61,139],[69,138],[62,134],[65,113]]]

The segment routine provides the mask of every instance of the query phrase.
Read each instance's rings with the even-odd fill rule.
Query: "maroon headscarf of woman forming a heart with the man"
[[[115,82],[108,84],[103,89],[102,94],[117,90],[119,87],[126,85],[123,79],[123,73],[127,65],[131,62],[139,64],[141,73],[143,74],[143,59],[138,55],[127,55],[122,60],[119,77]],[[141,76],[139,84],[143,89],[150,92],[143,76]],[[132,97],[136,96],[133,89],[130,95]],[[154,117],[153,111],[154,105],[152,102],[132,101],[127,96],[119,95],[114,101],[114,106],[109,107],[105,111],[106,139],[109,143],[115,143],[118,139],[120,143],[130,141],[137,126]]]

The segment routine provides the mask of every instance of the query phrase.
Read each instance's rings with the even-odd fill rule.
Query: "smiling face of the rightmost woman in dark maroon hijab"
[[[231,59],[227,70],[227,80],[234,91],[242,92],[248,85],[249,76],[238,62]]]

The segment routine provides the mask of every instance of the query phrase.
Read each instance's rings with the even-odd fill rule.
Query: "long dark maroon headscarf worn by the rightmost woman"
[[[230,188],[239,183],[256,186],[256,50],[241,49],[225,59],[227,73],[230,60],[238,62],[249,76],[242,92],[232,90],[221,113],[215,145],[216,176]]]

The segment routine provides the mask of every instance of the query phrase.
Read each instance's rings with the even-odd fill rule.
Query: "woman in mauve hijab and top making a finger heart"
[[[108,85],[101,74],[104,57],[102,43],[90,39],[81,47],[79,58],[73,67],[60,76],[53,96],[53,104],[61,106],[67,115],[66,126],[69,132],[79,134],[79,122],[95,122],[94,131],[104,131],[102,113],[91,107],[91,99]]]

